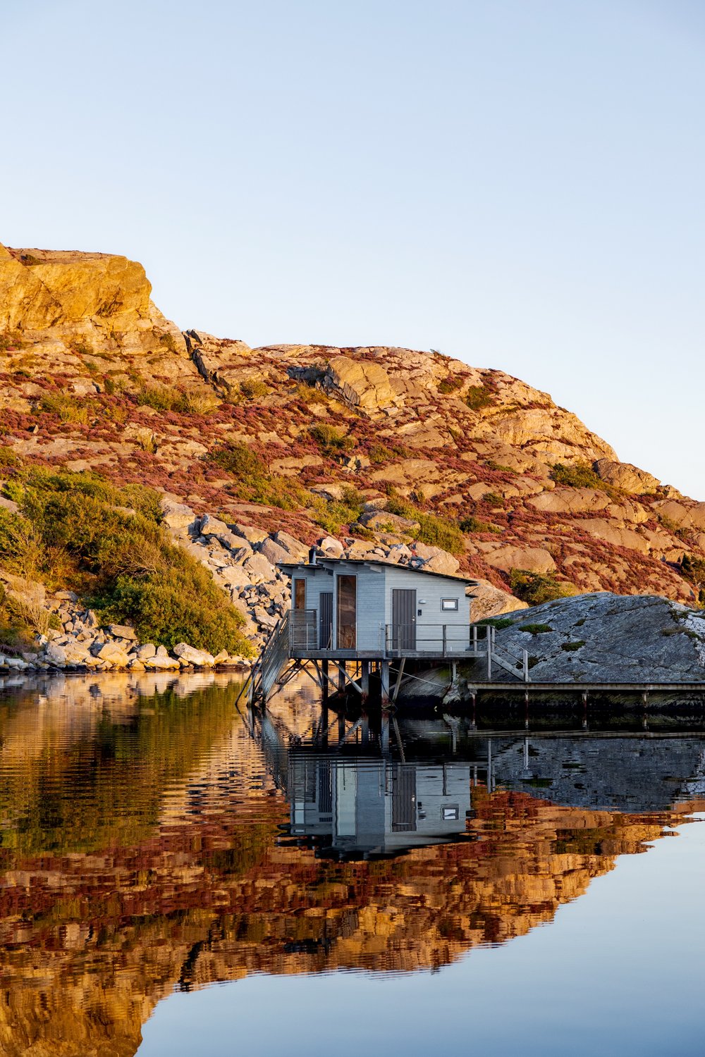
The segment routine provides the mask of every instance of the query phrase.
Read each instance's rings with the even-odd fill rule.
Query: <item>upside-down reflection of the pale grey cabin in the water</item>
[[[444,843],[465,833],[469,763],[290,757],[292,834],[358,858]]]

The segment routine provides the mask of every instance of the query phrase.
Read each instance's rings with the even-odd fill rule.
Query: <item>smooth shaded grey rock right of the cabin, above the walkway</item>
[[[667,598],[562,598],[517,614],[496,642],[512,656],[527,650],[537,683],[705,682],[705,612]],[[512,681],[501,669],[494,674]]]

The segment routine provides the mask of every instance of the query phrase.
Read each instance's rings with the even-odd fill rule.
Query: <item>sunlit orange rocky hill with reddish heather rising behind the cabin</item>
[[[252,639],[285,600],[274,563],[321,539],[478,577],[476,616],[575,592],[699,601],[705,503],[546,393],[434,351],[182,334],[150,294],[124,257],[0,246],[11,514],[42,467],[156,489]]]

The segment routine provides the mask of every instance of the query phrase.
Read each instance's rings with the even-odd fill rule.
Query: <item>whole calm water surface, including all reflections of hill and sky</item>
[[[2,1054],[703,1052],[702,728],[237,689],[0,687]]]

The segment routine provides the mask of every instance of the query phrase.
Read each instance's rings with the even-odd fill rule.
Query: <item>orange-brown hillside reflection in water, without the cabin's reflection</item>
[[[0,1051],[11,1057],[128,1057],[174,986],[443,966],[552,921],[678,819],[472,779],[461,839],[337,861],[294,833],[231,694],[94,712],[90,733],[86,713],[44,723],[42,743],[30,702],[0,711],[2,752],[16,742],[0,773]],[[305,708],[286,715],[301,734],[309,721]]]

